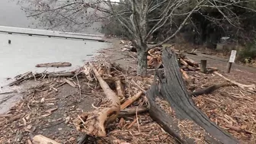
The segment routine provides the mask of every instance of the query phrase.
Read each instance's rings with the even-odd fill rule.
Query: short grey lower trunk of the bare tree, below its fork
[[[147,68],[148,68],[148,64],[147,64],[148,53],[146,51],[146,48],[138,49],[137,56],[138,56],[137,75],[146,75]]]

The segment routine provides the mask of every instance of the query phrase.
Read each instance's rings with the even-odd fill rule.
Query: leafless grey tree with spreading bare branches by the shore
[[[234,27],[232,19],[235,14],[229,8],[248,1],[233,0],[27,0],[29,17],[39,18],[50,27],[62,29],[81,30],[95,21],[106,21],[116,18],[130,34],[130,40],[137,48],[138,75],[145,75],[147,71],[147,51],[161,46],[171,40],[187,24],[192,14],[201,8],[215,8],[222,14],[222,20],[228,21]],[[118,9],[117,5],[122,9]],[[246,8],[246,7],[243,7]],[[152,14],[154,16],[152,17]],[[229,16],[232,15],[232,18]],[[177,24],[174,19],[180,18]],[[149,24],[151,27],[149,27]],[[152,25],[153,24],[153,25]],[[148,46],[147,41],[162,27],[169,27],[164,32],[165,40],[153,46]],[[174,28],[173,28],[174,27]]]

